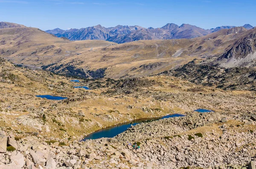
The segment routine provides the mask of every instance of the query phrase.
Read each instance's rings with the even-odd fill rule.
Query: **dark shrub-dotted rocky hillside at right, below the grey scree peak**
[[[160,75],[175,76],[198,85],[215,86],[224,90],[256,91],[255,68],[221,68],[192,61]]]

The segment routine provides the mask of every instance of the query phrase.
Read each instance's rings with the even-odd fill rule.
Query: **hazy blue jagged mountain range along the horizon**
[[[230,29],[236,26],[220,26],[212,29],[203,29],[194,25],[182,24],[180,26],[174,23],[168,23],[161,28],[143,28],[141,26],[122,26],[105,28],[96,25],[88,28],[62,30],[56,28],[47,30],[49,34],[56,37],[65,37],[70,40],[107,40],[116,43],[132,42],[135,40],[156,40],[156,39],[191,39],[202,37],[222,29]],[[253,26],[245,24],[247,30]]]

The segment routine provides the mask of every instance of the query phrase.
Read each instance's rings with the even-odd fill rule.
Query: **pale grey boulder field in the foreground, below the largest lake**
[[[188,112],[84,142],[1,132],[1,169],[255,169],[256,116]],[[137,142],[140,149],[129,143]]]

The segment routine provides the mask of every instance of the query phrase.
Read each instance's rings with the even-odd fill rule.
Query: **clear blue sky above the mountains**
[[[0,0],[0,21],[42,30],[93,25],[256,26],[255,0]]]

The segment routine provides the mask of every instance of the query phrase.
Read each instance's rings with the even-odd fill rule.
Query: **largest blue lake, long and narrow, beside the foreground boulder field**
[[[185,115],[173,114],[173,115],[166,115],[166,116],[158,117],[158,118],[143,118],[143,119],[139,119],[139,120],[130,121],[127,123],[117,124],[115,126],[107,127],[105,129],[93,132],[93,133],[85,136],[85,138],[82,141],[89,140],[89,139],[94,140],[94,139],[103,138],[103,137],[113,138],[116,135],[127,130],[129,127],[131,127],[131,125],[135,126],[136,124],[140,124],[140,123],[149,123],[149,122],[157,121],[157,120],[164,119],[164,118],[173,118],[173,117],[182,117],[182,116],[185,116]]]

